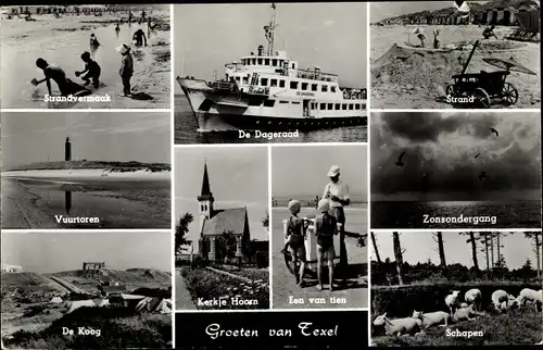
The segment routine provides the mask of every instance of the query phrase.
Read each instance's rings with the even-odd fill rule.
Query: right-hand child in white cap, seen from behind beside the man
[[[323,262],[328,262],[328,275],[330,290],[334,289],[333,285],[333,258],[336,251],[333,249],[333,236],[338,234],[338,222],[334,216],[329,214],[330,204],[327,199],[321,199],[317,205],[316,232],[317,232],[317,278],[318,290],[323,290]]]

